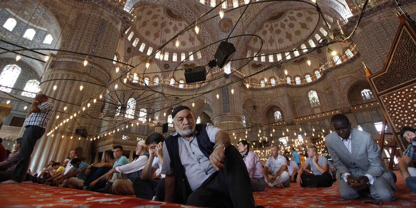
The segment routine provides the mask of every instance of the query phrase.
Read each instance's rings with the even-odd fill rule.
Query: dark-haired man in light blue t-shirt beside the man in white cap
[[[116,162],[114,162],[113,168],[116,168],[117,166],[126,165],[129,164],[130,161],[127,159],[126,156],[123,156],[123,147],[121,145],[115,145],[113,147],[113,155],[114,158],[116,158]],[[110,170],[111,171],[111,170]],[[97,191],[102,193],[110,193],[110,188],[113,185],[113,182],[117,179],[117,175],[122,177],[121,174],[114,174],[112,171],[107,172],[106,174],[102,175],[97,180],[90,183],[90,189],[91,191]],[[113,179],[113,175],[116,175],[116,178]],[[102,181],[103,180],[103,181]],[[108,181],[107,183],[105,183]],[[100,183],[99,183],[100,182]],[[99,184],[97,184],[99,183]],[[97,186],[96,186],[97,184]],[[98,187],[100,185],[100,187]],[[103,187],[104,185],[104,187]]]

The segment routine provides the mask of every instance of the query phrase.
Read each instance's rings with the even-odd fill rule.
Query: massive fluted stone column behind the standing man
[[[83,3],[81,6],[85,8],[75,11],[78,12],[75,17],[74,11],[64,14],[68,15],[68,18],[73,18],[74,21],[69,21],[63,31],[60,49],[107,58],[114,57],[122,30],[120,16],[93,2]],[[83,65],[85,59],[89,62],[86,67]],[[90,138],[75,136],[75,128],[82,125],[87,129],[93,129],[101,125],[100,120],[83,119],[77,116],[77,122],[71,119],[63,123],[53,134],[49,136],[46,134],[55,124],[62,122],[67,113],[73,113],[78,105],[94,96],[103,88],[103,85],[110,81],[111,68],[112,61],[91,56],[86,58],[84,55],[75,53],[59,52],[50,58],[45,66],[40,88],[41,92],[53,98],[51,102],[55,106],[55,112],[45,135],[39,139],[34,149],[30,164],[31,170],[39,171],[48,160],[63,162],[65,158],[68,158],[69,151],[77,147],[83,149],[81,154],[88,161],[92,141]],[[79,88],[81,84],[84,86],[82,91]],[[53,90],[55,85],[57,89]],[[64,111],[65,106],[67,108]],[[56,118],[57,115],[59,118]],[[91,135],[98,132],[88,133]],[[105,158],[105,152],[103,158]]]

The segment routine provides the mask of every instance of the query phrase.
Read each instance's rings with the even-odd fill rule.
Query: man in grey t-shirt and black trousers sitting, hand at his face
[[[328,173],[328,160],[318,155],[318,148],[314,145],[308,147],[307,154],[308,159],[300,166],[296,182],[301,187],[331,187],[332,177]],[[308,166],[313,175],[303,172]]]

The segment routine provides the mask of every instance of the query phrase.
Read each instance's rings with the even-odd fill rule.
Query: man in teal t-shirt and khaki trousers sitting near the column
[[[55,185],[63,183],[62,187],[70,189],[81,188],[84,186],[84,181],[87,180],[85,170],[87,170],[88,164],[79,158],[74,158],[71,160],[71,165],[73,166],[72,171],[55,181]]]

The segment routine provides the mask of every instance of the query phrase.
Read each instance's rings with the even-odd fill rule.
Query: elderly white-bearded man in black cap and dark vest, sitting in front
[[[228,133],[195,124],[187,106],[175,107],[172,118],[176,132],[163,145],[165,202],[254,208],[249,173]]]

